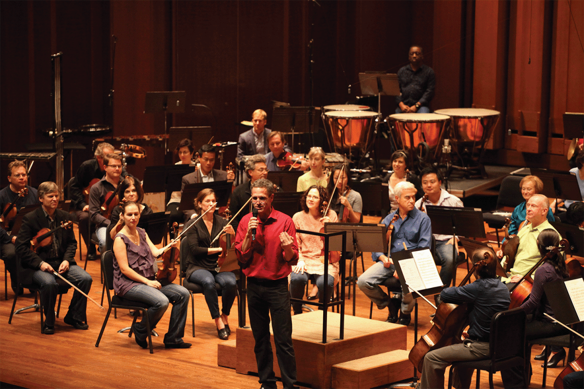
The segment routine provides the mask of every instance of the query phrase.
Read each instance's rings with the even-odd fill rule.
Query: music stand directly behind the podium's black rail
[[[347,239],[343,245],[340,239],[332,239],[331,250],[353,252],[353,275],[357,276],[357,251],[363,252],[383,252],[387,247],[385,233],[387,227],[384,224],[369,223],[325,223],[325,233],[336,233],[346,231]],[[344,275],[343,275],[344,278]],[[344,290],[345,285],[342,285]],[[353,316],[355,316],[357,281],[353,283]]]

